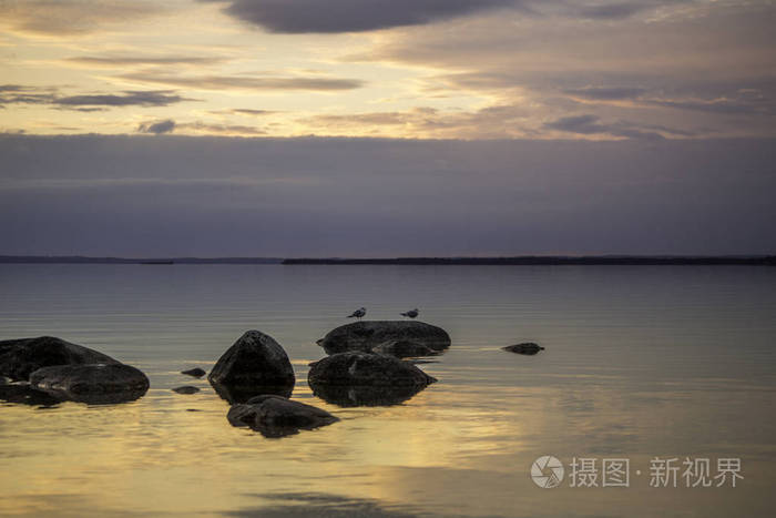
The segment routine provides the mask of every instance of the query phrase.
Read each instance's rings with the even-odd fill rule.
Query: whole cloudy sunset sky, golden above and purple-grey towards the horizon
[[[776,253],[770,0],[0,0],[0,254]]]

